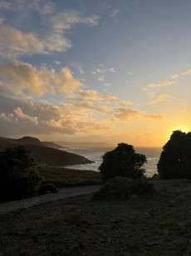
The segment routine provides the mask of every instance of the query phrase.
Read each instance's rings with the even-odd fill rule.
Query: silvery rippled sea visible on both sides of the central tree
[[[104,153],[113,150],[114,148],[91,148],[91,147],[79,147],[79,148],[63,148],[62,150],[77,153],[81,156],[84,156],[95,163],[87,164],[75,164],[67,165],[67,168],[81,169],[81,170],[92,170],[98,172],[100,163],[102,163],[101,156]],[[135,148],[136,153],[143,153],[147,158],[147,163],[144,164],[145,175],[153,176],[154,173],[157,173],[157,163],[159,162],[159,156],[161,153],[161,148]]]

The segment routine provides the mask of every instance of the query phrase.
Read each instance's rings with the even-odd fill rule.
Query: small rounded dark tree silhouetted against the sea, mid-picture
[[[126,143],[118,144],[114,150],[107,152],[102,156],[103,162],[99,170],[104,183],[116,176],[127,178],[142,178],[146,162],[144,154],[135,153],[132,145]]]

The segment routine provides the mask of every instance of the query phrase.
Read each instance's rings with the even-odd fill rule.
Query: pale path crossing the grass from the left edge
[[[35,204],[55,201],[62,198],[76,197],[86,193],[94,193],[99,190],[100,186],[83,186],[60,188],[59,193],[49,193],[35,198],[27,198],[0,204],[0,214],[9,213],[22,208],[28,208]]]

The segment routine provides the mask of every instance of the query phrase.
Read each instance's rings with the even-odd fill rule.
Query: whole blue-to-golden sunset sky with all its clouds
[[[191,130],[190,0],[0,0],[0,136],[162,147]]]

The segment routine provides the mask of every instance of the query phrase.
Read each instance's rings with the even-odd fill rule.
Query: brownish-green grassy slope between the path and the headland
[[[99,172],[74,170],[70,168],[37,167],[43,183],[54,183],[57,187],[100,185]]]

